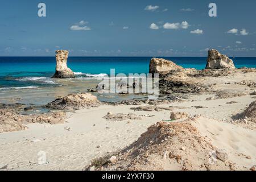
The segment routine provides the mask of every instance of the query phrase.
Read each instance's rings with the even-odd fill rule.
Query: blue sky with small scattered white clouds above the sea
[[[255,0],[1,1],[0,56],[256,56],[255,9]]]

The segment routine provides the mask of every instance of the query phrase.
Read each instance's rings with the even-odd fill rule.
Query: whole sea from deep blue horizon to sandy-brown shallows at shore
[[[69,93],[86,92],[98,84],[97,76],[148,73],[151,57],[69,57],[73,79],[52,79],[55,57],[0,57],[0,102],[45,105]],[[204,69],[207,57],[165,57],[184,68]],[[256,68],[256,57],[232,57],[237,68]],[[93,93],[101,101],[119,101],[145,96]]]

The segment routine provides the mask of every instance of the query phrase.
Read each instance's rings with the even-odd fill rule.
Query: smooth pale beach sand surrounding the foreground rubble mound
[[[216,89],[225,87],[226,82],[254,79],[255,73],[241,77],[217,77]],[[247,86],[232,85],[237,90],[251,89]],[[241,97],[206,100],[213,94],[192,95],[182,102],[174,102],[158,107],[172,107],[174,111],[184,111],[191,117],[201,115],[193,126],[202,137],[210,140],[214,147],[224,149],[229,160],[236,163],[237,169],[248,170],[256,163],[255,122],[230,122],[233,115],[242,113],[255,100],[246,94]],[[236,102],[227,104],[228,102]],[[148,106],[143,104],[140,106]],[[196,107],[200,106],[200,107]],[[170,121],[170,110],[134,111],[127,105],[101,105],[68,113],[67,123],[49,125],[33,123],[24,131],[0,134],[0,167],[10,170],[82,170],[100,156],[113,154],[135,142],[147,128],[159,121]],[[178,108],[184,109],[178,109]],[[108,113],[142,116],[141,119],[106,121]],[[38,152],[45,151],[47,163],[38,164]]]

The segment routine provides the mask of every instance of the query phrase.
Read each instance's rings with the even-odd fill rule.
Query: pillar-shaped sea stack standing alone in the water
[[[52,78],[73,78],[75,74],[67,67],[68,51],[56,51],[56,71]]]

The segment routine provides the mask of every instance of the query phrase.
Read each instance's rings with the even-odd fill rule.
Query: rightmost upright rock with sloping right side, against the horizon
[[[208,51],[208,59],[207,59],[207,66],[205,69],[223,69],[229,68],[234,69],[234,63],[228,56],[222,55],[215,49],[210,49]]]

